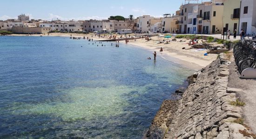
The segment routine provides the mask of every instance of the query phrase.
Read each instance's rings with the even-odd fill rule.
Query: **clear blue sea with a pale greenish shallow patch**
[[[0,138],[140,139],[193,71],[102,44],[0,36]]]

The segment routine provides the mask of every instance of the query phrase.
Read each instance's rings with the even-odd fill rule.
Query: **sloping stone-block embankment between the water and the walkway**
[[[236,101],[239,89],[227,87],[228,63],[229,57],[222,53],[220,58],[190,76],[189,86],[180,100],[169,106],[163,102],[146,138],[253,139],[249,127],[239,124],[241,107],[230,103]]]

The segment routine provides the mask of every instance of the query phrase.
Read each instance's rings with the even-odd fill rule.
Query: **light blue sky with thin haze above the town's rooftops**
[[[0,20],[17,19],[21,13],[30,19],[87,20],[128,18],[151,15],[162,17],[175,13],[185,0],[1,0]],[[209,0],[199,0],[209,1]]]

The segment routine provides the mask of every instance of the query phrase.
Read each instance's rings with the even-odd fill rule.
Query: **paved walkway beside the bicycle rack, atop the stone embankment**
[[[243,92],[237,93],[240,101],[245,102],[243,108],[243,118],[245,123],[251,127],[251,131],[256,133],[256,79],[242,79],[237,71],[234,58],[229,64],[229,84],[231,88],[241,88]]]

